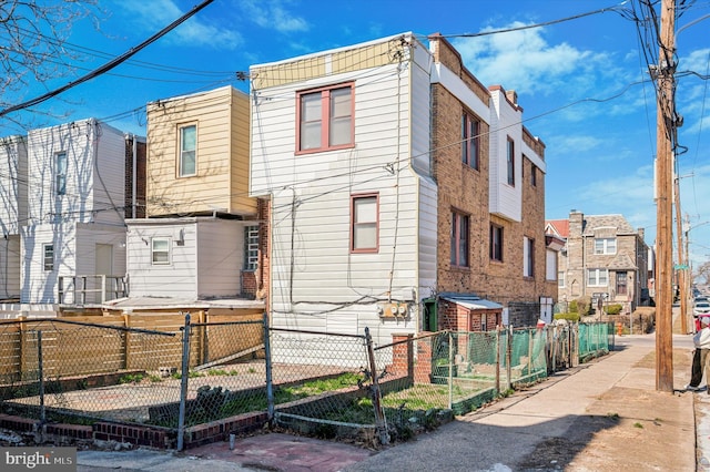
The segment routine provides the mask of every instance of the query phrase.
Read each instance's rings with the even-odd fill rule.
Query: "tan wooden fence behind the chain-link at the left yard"
[[[191,315],[190,367],[263,346],[261,312]],[[0,383],[121,370],[181,370],[183,314],[71,316],[0,321]],[[39,334],[41,332],[41,343]]]

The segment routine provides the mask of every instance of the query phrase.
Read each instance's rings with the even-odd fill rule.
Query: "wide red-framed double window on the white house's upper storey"
[[[301,92],[296,152],[315,152],[352,147],[353,85]]]

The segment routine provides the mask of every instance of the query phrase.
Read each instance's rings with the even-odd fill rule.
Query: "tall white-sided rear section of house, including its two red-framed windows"
[[[369,327],[379,343],[418,330],[436,278],[429,61],[402,34],[251,68],[250,194],[272,204],[272,326]]]

